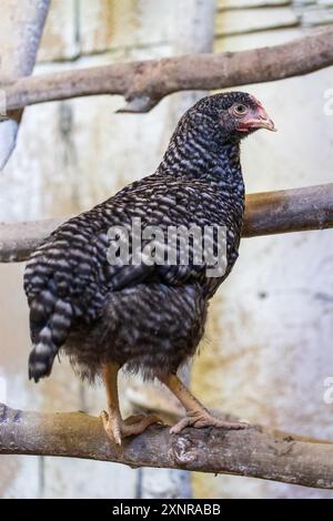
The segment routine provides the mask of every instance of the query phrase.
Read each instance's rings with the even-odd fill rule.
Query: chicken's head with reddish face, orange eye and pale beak
[[[226,141],[240,141],[259,129],[275,131],[274,123],[253,95],[226,92],[200,100],[186,114],[190,126],[201,126]]]

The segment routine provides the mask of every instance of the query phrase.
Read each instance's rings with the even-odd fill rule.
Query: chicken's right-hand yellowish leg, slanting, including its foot
[[[221,427],[223,429],[246,429],[249,423],[231,422],[215,418],[196,398],[186,389],[176,375],[167,375],[159,379],[173,392],[186,410],[186,417],[172,427],[171,433],[181,432],[185,427]]]

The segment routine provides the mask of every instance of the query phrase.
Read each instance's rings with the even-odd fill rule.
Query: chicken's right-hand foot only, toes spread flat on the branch
[[[202,427],[218,427],[228,430],[241,430],[248,429],[250,425],[243,421],[224,421],[220,418],[215,418],[208,410],[203,409],[199,411],[188,412],[188,416],[180,420],[175,426],[173,426],[170,429],[170,432],[172,435],[176,435],[181,432],[185,427],[195,427],[196,429],[201,429]]]

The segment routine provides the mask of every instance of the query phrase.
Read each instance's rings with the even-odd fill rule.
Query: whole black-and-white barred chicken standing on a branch
[[[28,262],[24,290],[33,344],[29,377],[38,382],[49,376],[61,351],[82,378],[102,378],[108,400],[102,420],[119,445],[159,421],[153,416],[122,419],[120,368],[157,378],[176,396],[186,417],[172,432],[186,426],[246,427],[213,417],[176,371],[195,354],[209,302],[238,258],[244,213],[240,142],[258,129],[275,130],[252,95],[230,92],[203,98],[180,120],[154,174],[64,223]],[[203,238],[189,241],[188,263],[181,262],[178,241],[174,262],[165,251],[162,258],[149,257],[147,238],[139,262],[137,257],[133,262],[138,248],[132,243],[123,260],[121,241],[127,234],[128,241],[134,239],[134,221],[140,222],[142,236],[152,226],[165,238],[171,228],[195,225]],[[216,260],[195,258],[195,247],[202,246],[210,226],[226,231],[224,269],[213,276],[209,268]],[[216,233],[210,237],[216,251]],[[113,262],[111,245],[118,252]]]

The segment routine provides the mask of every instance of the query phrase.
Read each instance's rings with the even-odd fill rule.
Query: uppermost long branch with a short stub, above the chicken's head
[[[173,92],[282,80],[332,64],[333,25],[330,25],[280,45],[21,78],[4,90],[9,110],[69,98],[120,94],[128,101],[122,112],[148,112]]]

